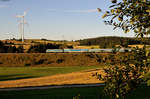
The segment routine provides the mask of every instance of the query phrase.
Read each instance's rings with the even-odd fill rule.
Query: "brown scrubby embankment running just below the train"
[[[119,62],[125,53],[1,53],[0,66],[97,66]]]

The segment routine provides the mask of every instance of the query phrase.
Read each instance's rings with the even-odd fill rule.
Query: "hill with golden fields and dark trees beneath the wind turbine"
[[[46,39],[25,39],[24,42],[16,39],[1,40],[0,53],[20,53],[20,51],[17,51],[20,48],[22,48],[21,52],[46,52],[46,49],[72,48],[76,45],[79,45],[79,42]],[[41,49],[43,50],[41,51]]]

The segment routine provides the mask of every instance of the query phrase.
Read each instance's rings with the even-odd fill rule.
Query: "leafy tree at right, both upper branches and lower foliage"
[[[102,16],[108,18],[106,24],[125,33],[133,30],[137,37],[150,34],[150,0],[111,0],[110,11]],[[98,8],[99,11],[101,9]],[[125,99],[133,89],[144,82],[144,75],[150,66],[150,52],[144,46],[134,49],[128,57],[123,57],[119,66],[104,69],[105,76],[97,77],[105,81],[104,91],[112,99]],[[147,80],[147,79],[146,79]]]

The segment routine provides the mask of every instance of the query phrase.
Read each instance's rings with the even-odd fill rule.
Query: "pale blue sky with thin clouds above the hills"
[[[101,8],[110,0],[6,0],[0,1],[0,39],[20,38],[17,15],[25,16],[25,39],[79,40],[100,36],[131,37],[105,25]]]

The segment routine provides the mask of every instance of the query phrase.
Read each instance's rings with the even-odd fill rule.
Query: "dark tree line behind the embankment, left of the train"
[[[7,45],[7,43],[3,43],[0,41],[0,53],[24,53],[25,49],[22,45],[19,47]],[[31,45],[30,48],[26,51],[27,53],[46,53],[46,49],[63,49],[63,48],[73,48],[73,46],[69,46],[66,44],[36,44]]]

